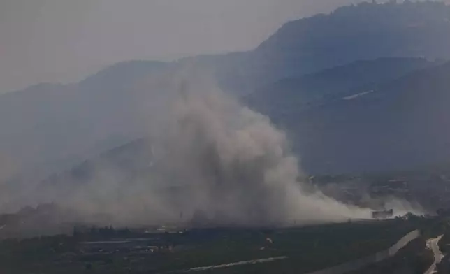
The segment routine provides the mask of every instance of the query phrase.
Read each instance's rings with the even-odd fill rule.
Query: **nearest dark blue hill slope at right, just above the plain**
[[[313,173],[411,168],[450,158],[450,63],[308,110],[274,110]]]

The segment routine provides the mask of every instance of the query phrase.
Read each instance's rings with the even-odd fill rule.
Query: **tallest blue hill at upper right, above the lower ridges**
[[[450,6],[439,2],[360,3],[329,15],[294,20],[220,69],[231,87],[262,87],[379,57],[450,57]],[[220,59],[223,61],[223,59]],[[240,85],[242,83],[242,85]]]

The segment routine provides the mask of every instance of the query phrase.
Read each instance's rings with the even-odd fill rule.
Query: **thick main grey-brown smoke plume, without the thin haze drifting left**
[[[152,131],[159,151],[152,165],[167,184],[185,187],[174,203],[159,196],[162,208],[244,225],[370,217],[369,209],[307,192],[286,134],[268,117],[201,77],[183,78],[171,90],[164,122]]]

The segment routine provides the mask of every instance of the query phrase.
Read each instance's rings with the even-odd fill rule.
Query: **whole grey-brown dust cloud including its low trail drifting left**
[[[368,208],[305,187],[286,134],[268,117],[203,76],[166,80],[165,95],[148,113],[147,176],[118,180],[117,171],[102,166],[96,180],[66,192],[59,203],[133,224],[289,225],[370,217]]]

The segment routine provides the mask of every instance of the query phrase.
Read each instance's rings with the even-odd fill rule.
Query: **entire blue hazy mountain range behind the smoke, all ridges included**
[[[145,135],[149,115],[139,110],[165,91],[149,92],[146,80],[190,64],[286,129],[307,173],[450,159],[450,120],[443,118],[450,70],[442,65],[450,59],[449,19],[450,7],[435,1],[359,3],[288,22],[247,52],[123,62],[71,85],[1,94],[8,134],[0,136],[0,153],[20,155],[21,169],[0,178],[7,182],[0,202],[9,185],[41,189],[50,174]]]

